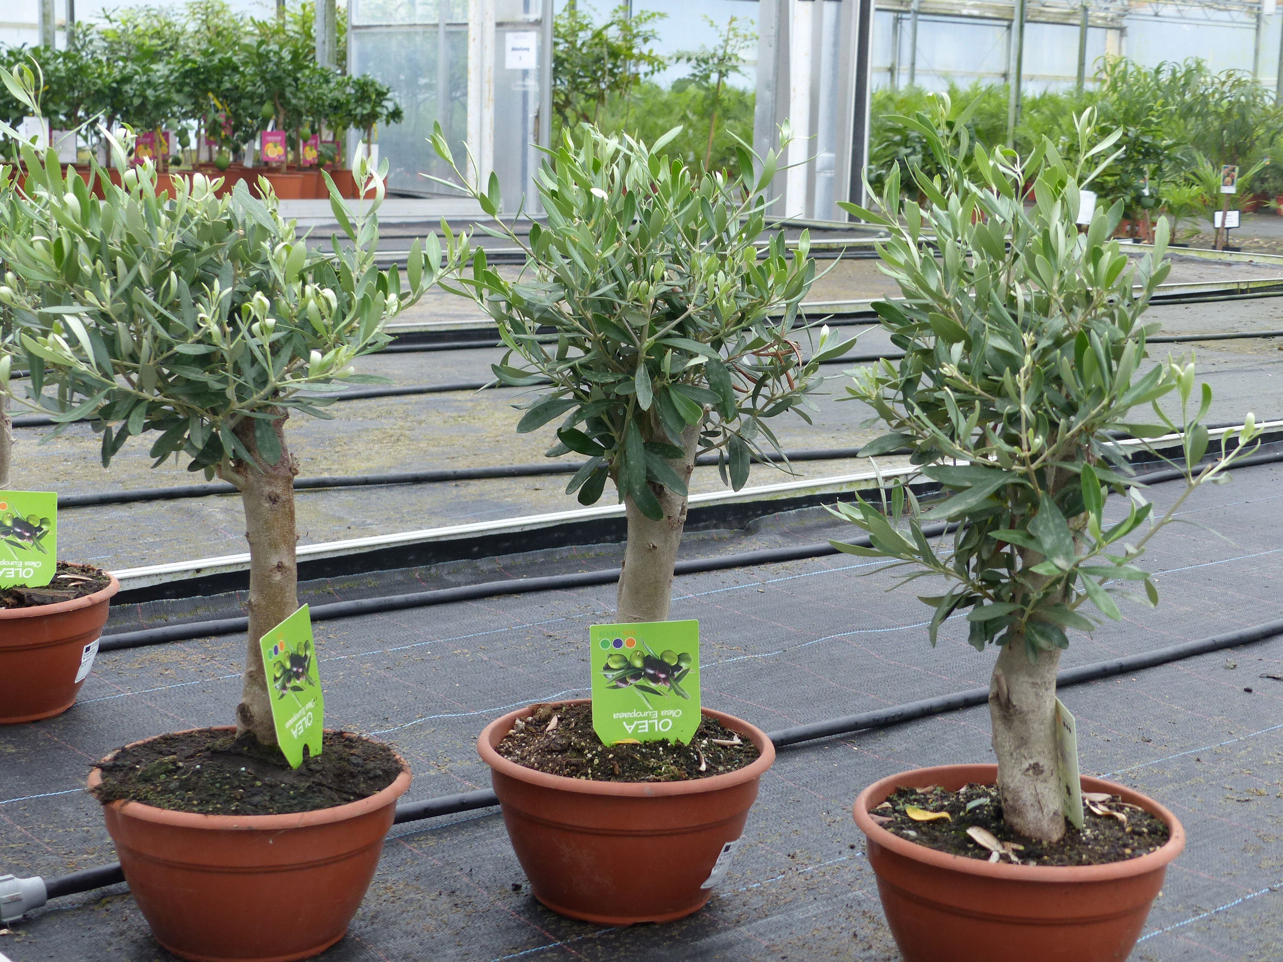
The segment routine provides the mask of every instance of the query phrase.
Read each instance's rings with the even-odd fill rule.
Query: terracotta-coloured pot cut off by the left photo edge
[[[121,582],[35,608],[0,608],[0,725],[62,714],[98,654],[108,603]]]

